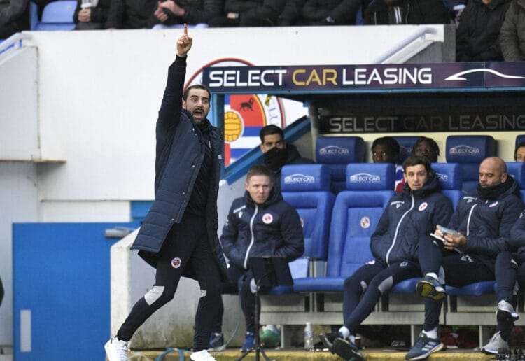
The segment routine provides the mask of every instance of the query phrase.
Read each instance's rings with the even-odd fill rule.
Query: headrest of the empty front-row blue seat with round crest
[[[346,166],[346,190],[393,190],[395,166],[391,163],[354,163]]]

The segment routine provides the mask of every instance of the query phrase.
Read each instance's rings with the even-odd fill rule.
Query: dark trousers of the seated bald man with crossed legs
[[[494,281],[496,261],[479,255],[444,250],[442,243],[431,237],[419,243],[419,264],[424,274],[434,272],[444,276],[447,285],[462,287],[470,283]],[[430,331],[439,325],[443,299],[425,299],[423,330]]]

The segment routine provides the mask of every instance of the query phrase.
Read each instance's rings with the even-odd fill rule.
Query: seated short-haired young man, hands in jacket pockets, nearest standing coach
[[[267,167],[251,167],[246,175],[244,197],[233,201],[223,228],[221,243],[228,257],[230,283],[223,285],[223,293],[239,293],[244,319],[246,341],[241,351],[255,346],[255,281],[250,270],[250,257],[279,256],[293,261],[304,253],[299,213],[290,206],[280,192],[276,192],[272,173]],[[218,317],[211,333],[210,345],[221,346],[224,306],[219,296]],[[218,341],[220,339],[221,341]]]

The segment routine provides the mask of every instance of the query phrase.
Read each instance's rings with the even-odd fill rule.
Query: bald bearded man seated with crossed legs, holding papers
[[[475,192],[459,201],[447,229],[435,229],[434,234],[442,240],[428,237],[419,243],[423,278],[417,283],[417,291],[426,297],[425,323],[407,360],[426,358],[443,348],[437,326],[445,283],[461,287],[496,279],[496,256],[511,249],[510,229],[523,208],[518,184],[508,176],[505,162],[499,157],[485,158],[479,164]],[[515,313],[508,302],[502,307],[506,313]],[[494,337],[484,350],[496,348],[497,353],[498,346],[504,346],[503,342]]]

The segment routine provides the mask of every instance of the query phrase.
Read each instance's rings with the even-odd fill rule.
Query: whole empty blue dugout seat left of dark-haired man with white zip
[[[370,236],[393,195],[394,175],[393,164],[348,164],[347,190],[332,212],[326,277],[298,278],[295,292],[342,292],[344,280],[373,260]]]

